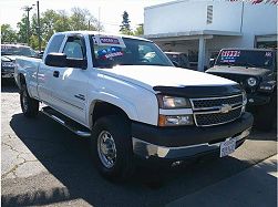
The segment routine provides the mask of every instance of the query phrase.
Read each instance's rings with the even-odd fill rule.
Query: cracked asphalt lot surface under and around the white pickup
[[[203,157],[164,170],[140,168],[133,180],[112,184],[93,167],[87,139],[41,113],[34,120],[23,117],[11,85],[2,86],[1,103],[2,206],[164,206],[277,154],[276,132],[255,131],[231,156]],[[238,188],[240,184],[229,186]],[[241,199],[253,199],[254,194]]]

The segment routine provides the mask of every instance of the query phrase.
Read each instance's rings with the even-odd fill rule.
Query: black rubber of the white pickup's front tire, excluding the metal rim
[[[127,118],[119,115],[109,115],[96,121],[91,138],[91,151],[93,162],[99,172],[107,179],[113,182],[126,180],[134,172],[134,159],[131,130]],[[107,167],[103,164],[99,143],[103,132],[109,132],[115,143],[116,156],[114,164]],[[101,149],[100,149],[101,151]]]

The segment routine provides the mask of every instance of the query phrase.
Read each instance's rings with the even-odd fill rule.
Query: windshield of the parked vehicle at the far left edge
[[[27,46],[1,45],[1,54],[34,56],[35,52]]]

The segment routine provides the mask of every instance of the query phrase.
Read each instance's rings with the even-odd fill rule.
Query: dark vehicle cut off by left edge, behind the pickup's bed
[[[38,56],[35,51],[21,44],[1,44],[1,79],[13,77],[16,56]]]

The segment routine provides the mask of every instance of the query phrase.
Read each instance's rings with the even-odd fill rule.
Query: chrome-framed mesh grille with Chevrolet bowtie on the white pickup
[[[212,126],[233,122],[241,115],[243,94],[224,97],[192,99],[197,126]],[[224,107],[228,107],[228,111]]]

